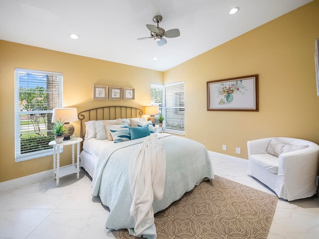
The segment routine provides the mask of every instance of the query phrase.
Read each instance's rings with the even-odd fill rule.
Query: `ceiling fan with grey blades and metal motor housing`
[[[180,35],[180,32],[177,28],[165,31],[163,28],[159,27],[159,23],[162,19],[163,18],[160,15],[153,17],[153,21],[157,23],[157,26],[146,24],[146,27],[149,28],[149,30],[151,31],[151,36],[138,38],[138,40],[154,38],[154,40],[157,41],[158,45],[162,46],[167,43],[166,39],[163,37],[173,38]]]

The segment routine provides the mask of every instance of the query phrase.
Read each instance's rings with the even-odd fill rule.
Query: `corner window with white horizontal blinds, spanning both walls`
[[[160,89],[162,101],[160,102]],[[151,84],[151,104],[162,106],[165,117],[165,131],[177,134],[185,133],[185,83],[177,82],[166,85]]]

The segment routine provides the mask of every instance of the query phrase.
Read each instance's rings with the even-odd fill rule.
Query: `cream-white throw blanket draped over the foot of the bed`
[[[147,136],[130,161],[130,187],[136,235],[154,224],[153,200],[163,197],[166,155],[156,133]]]

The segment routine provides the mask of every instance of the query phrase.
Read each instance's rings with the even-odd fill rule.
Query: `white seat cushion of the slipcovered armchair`
[[[278,157],[268,154],[253,154],[250,155],[250,159],[254,161],[259,167],[271,172],[278,174]]]

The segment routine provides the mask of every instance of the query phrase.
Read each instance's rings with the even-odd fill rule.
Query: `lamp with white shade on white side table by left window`
[[[74,126],[70,122],[78,121],[78,112],[76,108],[55,108],[52,114],[52,123],[56,121],[63,121],[64,126],[67,128],[63,140],[70,139],[74,133]]]

